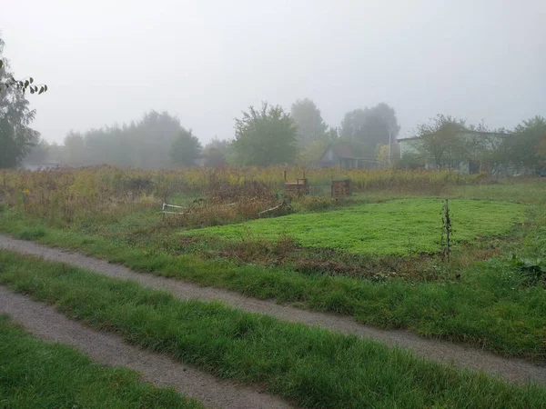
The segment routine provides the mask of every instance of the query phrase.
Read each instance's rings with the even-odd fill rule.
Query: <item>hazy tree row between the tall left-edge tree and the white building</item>
[[[232,139],[215,138],[203,146],[176,116],[150,111],[130,124],[105,126],[86,133],[70,131],[62,145],[39,140],[24,162],[144,168],[313,165],[333,142],[344,142],[355,155],[375,160],[381,146],[389,143],[389,132],[395,141],[399,125],[389,105],[351,111],[338,129],[325,124],[313,101],[303,99],[295,102],[289,112],[267,102],[259,108],[250,106],[235,119]]]

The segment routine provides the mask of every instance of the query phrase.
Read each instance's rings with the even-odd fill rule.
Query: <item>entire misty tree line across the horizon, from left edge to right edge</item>
[[[385,103],[355,109],[338,127],[325,123],[319,107],[305,98],[285,110],[280,105],[250,106],[235,119],[235,135],[203,146],[191,128],[167,112],[150,111],[130,124],[104,126],[86,133],[70,131],[63,145],[48,144],[31,128],[35,110],[26,92],[46,85],[33,78],[15,80],[2,58],[0,38],[0,168],[26,164],[119,165],[143,168],[224,165],[315,165],[331,143],[349,145],[351,155],[399,167],[457,168],[479,162],[491,173],[508,167],[534,173],[546,167],[546,120],[536,116],[512,132],[438,115],[416,130],[414,148],[399,157],[399,123]],[[480,137],[469,137],[471,133]],[[474,135],[475,135],[474,134]],[[500,136],[501,135],[501,136]],[[391,143],[389,145],[389,142]]]

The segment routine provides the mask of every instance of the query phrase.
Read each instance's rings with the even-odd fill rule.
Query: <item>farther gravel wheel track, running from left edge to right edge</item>
[[[544,365],[534,365],[521,359],[504,358],[462,344],[423,338],[408,331],[380,330],[359,324],[352,317],[345,315],[316,313],[290,305],[276,304],[273,301],[258,300],[223,289],[200,287],[196,284],[171,278],[135,273],[122,265],[108,264],[106,261],[82,254],[68,253],[4,235],[0,235],[0,248],[38,255],[49,261],[77,265],[98,274],[118,279],[134,280],[147,287],[175,294],[184,300],[192,298],[204,301],[220,300],[252,313],[268,314],[285,321],[315,325],[344,334],[357,334],[388,345],[408,348],[414,353],[424,355],[431,360],[453,363],[473,370],[497,374],[509,381],[532,381],[546,384],[546,366]]]

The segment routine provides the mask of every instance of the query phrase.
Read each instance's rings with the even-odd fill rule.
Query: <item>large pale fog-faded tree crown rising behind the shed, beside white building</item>
[[[396,141],[399,129],[394,109],[381,103],[345,114],[341,122],[340,137],[359,141],[374,149],[377,145],[389,144],[389,134],[390,140]]]

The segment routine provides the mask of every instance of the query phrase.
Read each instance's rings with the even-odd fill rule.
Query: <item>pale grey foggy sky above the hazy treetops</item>
[[[167,110],[201,141],[232,138],[262,100],[311,98],[327,124],[386,102],[410,136],[442,113],[513,127],[546,115],[543,0],[0,0],[5,57],[33,75],[33,127]]]

